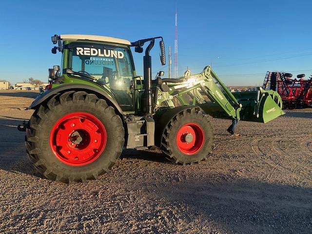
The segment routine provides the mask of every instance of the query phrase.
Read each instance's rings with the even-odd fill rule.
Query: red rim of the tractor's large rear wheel
[[[60,118],[54,125],[50,146],[61,162],[84,166],[101,155],[106,140],[106,130],[97,117],[75,112]]]

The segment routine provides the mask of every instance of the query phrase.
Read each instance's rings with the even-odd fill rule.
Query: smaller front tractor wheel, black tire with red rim
[[[186,109],[164,129],[161,150],[172,162],[191,164],[206,159],[214,145],[213,127],[201,111]]]

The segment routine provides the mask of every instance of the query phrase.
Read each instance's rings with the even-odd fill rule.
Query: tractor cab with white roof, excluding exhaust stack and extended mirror
[[[56,35],[52,41],[60,41],[52,53],[63,53],[61,82],[93,81],[116,99],[123,111],[135,110],[131,90],[135,67],[130,41],[91,35]]]

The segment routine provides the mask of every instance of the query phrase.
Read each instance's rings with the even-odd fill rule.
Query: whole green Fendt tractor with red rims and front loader
[[[55,35],[49,85],[19,125],[34,167],[49,179],[71,183],[109,172],[123,149],[159,147],[178,164],[207,158],[214,144],[209,116],[268,122],[284,112],[274,91],[232,94],[210,66],[196,75],[152,79],[150,51],[161,37],[130,42],[91,35]],[[130,47],[145,48],[144,79],[136,75]],[[223,92],[222,92],[223,91]]]

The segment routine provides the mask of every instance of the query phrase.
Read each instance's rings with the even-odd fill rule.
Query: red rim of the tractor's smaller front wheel
[[[176,145],[186,155],[196,154],[205,141],[203,129],[196,123],[184,124],[176,135]]]

